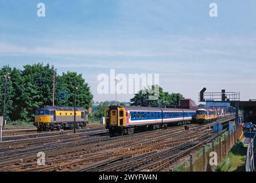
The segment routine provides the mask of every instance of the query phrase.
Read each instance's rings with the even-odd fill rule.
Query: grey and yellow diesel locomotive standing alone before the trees
[[[36,110],[34,126],[38,131],[73,128],[74,108],[61,106],[42,106]],[[88,124],[88,111],[76,108],[76,128],[85,128]]]

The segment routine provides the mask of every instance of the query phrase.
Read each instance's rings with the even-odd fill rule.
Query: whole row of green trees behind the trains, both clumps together
[[[82,74],[73,71],[57,74],[54,66],[37,63],[34,65],[25,65],[23,69],[3,66],[0,69],[0,116],[3,113],[3,98],[5,90],[6,73],[10,73],[10,79],[7,79],[6,85],[6,120],[7,121],[34,121],[34,112],[37,108],[53,103],[53,72],[55,72],[55,105],[56,106],[73,106],[73,84],[76,81],[76,105],[83,108],[92,106],[92,93],[90,86],[86,83]],[[153,89],[156,86],[149,86]],[[184,98],[180,93],[164,92],[162,87],[159,90],[157,100],[150,101],[146,89],[140,90],[134,94],[130,100],[132,106],[161,106],[161,105],[179,105],[180,99]],[[98,106],[93,106],[92,118],[104,116],[104,110],[109,105],[114,105],[115,101],[105,101]],[[125,106],[125,103],[118,102],[118,105]]]

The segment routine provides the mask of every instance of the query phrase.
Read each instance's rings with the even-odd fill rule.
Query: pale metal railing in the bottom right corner
[[[251,136],[250,132],[250,136]],[[246,165],[245,170],[246,172],[254,172],[255,166],[254,166],[254,154],[255,154],[255,144],[256,144],[256,134],[254,137],[250,140],[248,147],[247,147],[247,155],[246,155]]]

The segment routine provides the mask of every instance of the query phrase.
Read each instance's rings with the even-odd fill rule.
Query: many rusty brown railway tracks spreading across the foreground
[[[168,162],[173,154],[180,154],[184,148],[185,150],[193,148],[214,136],[214,133],[208,130],[208,127],[213,124],[192,124],[189,125],[189,130],[184,130],[184,126],[176,126],[128,136],[109,137],[106,133],[88,132],[88,134],[64,134],[18,142],[3,142],[3,145],[0,145],[0,171],[138,171],[148,169],[151,165],[146,162],[149,162],[147,160],[150,157],[156,160],[155,163],[162,161],[156,157],[165,157],[164,162]],[[10,144],[11,148],[8,146]],[[173,154],[163,155],[168,149]],[[37,165],[38,152],[45,153],[45,166]]]

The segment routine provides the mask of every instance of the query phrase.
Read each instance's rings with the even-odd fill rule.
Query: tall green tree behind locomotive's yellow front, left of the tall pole
[[[21,71],[24,89],[21,95],[22,120],[33,121],[34,111],[42,105],[52,105],[53,66],[42,63],[25,65]]]

